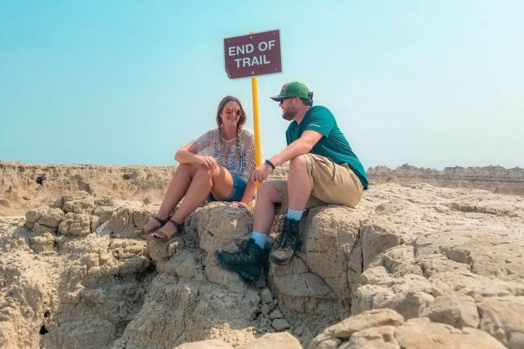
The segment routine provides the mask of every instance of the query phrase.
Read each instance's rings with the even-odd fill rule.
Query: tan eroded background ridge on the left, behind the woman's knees
[[[0,216],[24,215],[68,192],[161,201],[177,166],[40,165],[0,161]],[[272,178],[287,176],[277,168]]]

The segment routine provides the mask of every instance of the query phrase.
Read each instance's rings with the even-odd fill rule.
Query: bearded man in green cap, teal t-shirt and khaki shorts
[[[299,222],[304,209],[324,204],[355,207],[368,188],[366,172],[328,108],[313,105],[313,93],[299,82],[282,86],[278,96],[282,118],[291,121],[288,146],[252,173],[263,182],[289,161],[287,181],[268,181],[258,189],[252,237],[237,253],[217,251],[219,263],[249,280],[258,279],[265,261],[264,245],[275,220],[275,208],[287,212],[269,254],[275,264],[291,261],[300,249]]]

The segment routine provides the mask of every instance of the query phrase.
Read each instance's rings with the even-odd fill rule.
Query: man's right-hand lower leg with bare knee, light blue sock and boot
[[[300,249],[300,218],[311,195],[312,183],[308,173],[308,163],[304,155],[291,159],[288,176],[289,208],[284,219],[269,260],[276,264],[291,261],[293,253]]]

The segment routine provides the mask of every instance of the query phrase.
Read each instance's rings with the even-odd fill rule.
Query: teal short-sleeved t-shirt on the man
[[[322,106],[309,108],[300,125],[297,121],[291,121],[286,131],[288,145],[299,139],[302,133],[307,130],[317,131],[324,135],[311,149],[310,153],[329,157],[338,165],[347,163],[361,180],[364,190],[368,188],[366,171],[351,150],[350,143],[347,142],[344,134],[336,125],[335,117],[328,108]]]

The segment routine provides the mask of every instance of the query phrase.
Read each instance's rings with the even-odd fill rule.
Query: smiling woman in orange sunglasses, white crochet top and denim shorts
[[[253,133],[243,129],[246,115],[240,101],[224,97],[216,111],[218,128],[211,129],[180,148],[174,159],[180,165],[173,174],[157,215],[135,234],[169,242],[182,231],[182,224],[210,197],[247,207],[255,193],[249,176],[255,168]],[[173,217],[169,214],[184,198]]]

